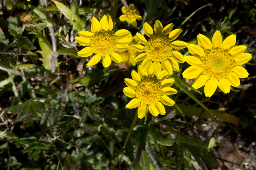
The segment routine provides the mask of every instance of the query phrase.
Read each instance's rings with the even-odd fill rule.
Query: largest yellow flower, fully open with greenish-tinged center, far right
[[[212,41],[206,36],[197,36],[199,46],[188,44],[187,48],[193,56],[184,56],[191,66],[182,74],[185,79],[195,79],[193,87],[204,86],[206,97],[211,97],[217,87],[224,92],[230,91],[230,85],[238,87],[239,78],[248,77],[245,68],[239,66],[248,62],[252,54],[244,53],[246,46],[235,46],[236,35],[228,36],[222,42],[220,31],[216,31]]]

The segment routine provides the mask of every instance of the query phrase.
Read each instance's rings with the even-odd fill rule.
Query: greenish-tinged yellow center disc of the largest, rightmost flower
[[[227,78],[235,65],[234,59],[222,49],[205,51],[201,60],[203,74],[216,80]]]

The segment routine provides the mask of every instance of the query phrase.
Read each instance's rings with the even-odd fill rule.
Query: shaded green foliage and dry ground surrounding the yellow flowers
[[[60,2],[70,7],[69,1]],[[174,28],[183,29],[179,39],[194,44],[198,33],[209,37],[215,30],[226,32],[224,37],[234,33],[237,44],[247,45],[253,58],[244,65],[250,76],[230,93],[217,90],[209,99],[191,91],[216,118],[174,87],[178,94],[172,97],[185,117],[170,106],[165,116],[149,115],[146,124],[138,120],[125,148],[137,111],[125,108],[129,99],[122,89],[124,78],[136,67],[85,66],[88,59],[76,55],[83,47],[74,40],[83,28],[47,2],[57,42],[58,74],[51,73],[49,21],[33,7],[41,9],[41,5],[33,0],[11,3],[11,9],[10,0],[0,6],[0,66],[9,69],[0,70],[0,81],[10,77],[14,66],[19,69],[12,71],[16,75],[9,84],[0,87],[1,169],[234,169],[242,162],[255,169],[255,1],[200,0],[189,5],[173,0],[131,1],[144,19],[138,21],[139,27],[156,19],[164,26],[173,22]],[[77,2],[75,21],[84,21],[89,29],[92,16],[109,13],[116,29],[135,35],[138,29],[118,20],[122,6],[117,0]],[[20,19],[23,12],[33,15],[31,21]],[[189,54],[186,49],[181,52]],[[22,71],[19,64],[35,67]],[[176,74],[187,67],[180,65]],[[225,160],[217,161],[221,159]]]

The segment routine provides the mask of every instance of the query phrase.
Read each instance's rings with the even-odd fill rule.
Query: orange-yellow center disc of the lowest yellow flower
[[[162,86],[155,78],[147,77],[137,86],[136,97],[144,104],[155,104],[160,100]]]

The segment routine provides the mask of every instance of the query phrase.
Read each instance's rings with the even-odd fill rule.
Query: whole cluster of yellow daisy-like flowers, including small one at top
[[[137,27],[136,20],[142,20],[140,13],[133,4],[129,8],[123,6],[120,21],[127,21]],[[101,58],[104,67],[109,67],[111,61],[123,62],[130,66],[138,65],[138,72],[132,70],[132,79],[125,79],[127,87],[123,89],[126,96],[132,100],[127,108],[138,107],[138,117],[143,118],[148,110],[153,116],[165,115],[163,104],[172,106],[175,102],[168,95],[176,94],[171,88],[174,79],[168,79],[174,71],[179,71],[179,63],[187,62],[191,66],[183,71],[185,79],[195,79],[194,88],[204,86],[206,97],[211,97],[219,87],[224,93],[230,91],[230,86],[238,87],[239,78],[248,77],[248,72],[240,65],[248,62],[252,55],[244,53],[246,46],[236,46],[236,35],[230,35],[222,41],[220,31],[216,31],[212,40],[199,34],[198,45],[175,40],[182,29],[174,29],[170,23],[163,27],[159,20],[154,23],[154,30],[149,23],[143,24],[144,34],[122,29],[113,32],[111,16],[104,15],[99,21],[91,19],[91,31],[80,31],[75,37],[77,43],[86,46],[78,52],[81,57],[91,57],[88,66],[97,64]],[[191,55],[183,56],[180,49],[188,48]]]

